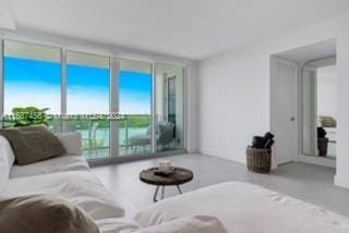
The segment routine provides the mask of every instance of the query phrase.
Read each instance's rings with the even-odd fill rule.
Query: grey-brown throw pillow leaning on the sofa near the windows
[[[65,154],[62,143],[43,125],[0,130],[13,149],[19,165]]]

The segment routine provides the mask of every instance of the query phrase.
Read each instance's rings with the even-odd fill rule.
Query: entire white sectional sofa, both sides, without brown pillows
[[[0,136],[0,168],[9,168],[0,170],[0,197],[33,194],[64,197],[85,210],[103,233],[349,232],[349,219],[344,216],[239,182],[161,200],[127,220],[123,208],[80,156],[80,135],[72,133],[59,138],[68,155],[19,167],[13,164],[10,144]]]

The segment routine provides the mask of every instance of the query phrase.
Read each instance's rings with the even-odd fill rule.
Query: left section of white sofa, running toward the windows
[[[67,155],[20,167],[13,164],[10,144],[0,136],[0,164],[7,162],[4,158],[8,158],[10,167],[9,177],[1,180],[0,197],[57,195],[81,207],[94,220],[123,217],[123,208],[89,171],[86,160],[81,156],[81,148],[76,147],[81,145],[81,135],[72,133],[59,135],[59,138]]]

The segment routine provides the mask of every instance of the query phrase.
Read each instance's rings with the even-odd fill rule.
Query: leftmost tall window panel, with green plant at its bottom
[[[26,42],[5,40],[3,44],[3,113],[15,109],[24,114],[37,108],[48,114],[61,112],[61,56],[60,49]],[[4,127],[27,124],[27,118],[5,119]],[[22,122],[21,122],[22,121]],[[48,125],[61,131],[59,118],[50,118]]]

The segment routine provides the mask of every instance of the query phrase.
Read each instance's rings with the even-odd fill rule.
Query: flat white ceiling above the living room
[[[349,10],[348,0],[11,0],[19,28],[201,60]]]

